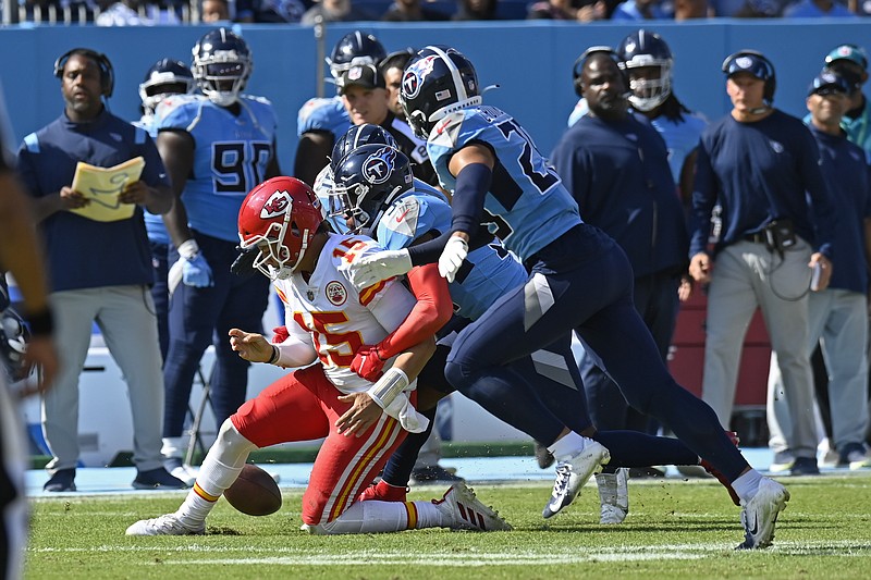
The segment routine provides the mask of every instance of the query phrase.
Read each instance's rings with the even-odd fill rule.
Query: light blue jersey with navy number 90
[[[243,199],[266,180],[275,155],[277,121],[268,100],[241,96],[238,116],[200,95],[177,95],[157,109],[158,131],[185,131],[194,138],[194,171],[182,199],[191,227],[236,242]]]

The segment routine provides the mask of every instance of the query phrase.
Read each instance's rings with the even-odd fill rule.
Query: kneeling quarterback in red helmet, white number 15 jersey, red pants
[[[413,381],[436,343],[430,336],[403,348],[375,382],[349,370],[367,343],[396,334],[415,300],[393,279],[356,292],[344,267],[381,248],[363,236],[329,232],[319,206],[314,192],[293,177],[269,180],[245,199],[241,246],[257,251],[255,268],[280,288],[289,335],[277,345],[232,329],[230,342],[246,360],[297,370],[224,421],[179,510],[137,521],[128,535],[204,533],[206,517],[252,451],[320,437],[326,441],[302,507],[304,528],[311,533],[511,529],[464,484],[432,502],[358,501],[406,430],[426,428],[427,419],[414,408]]]

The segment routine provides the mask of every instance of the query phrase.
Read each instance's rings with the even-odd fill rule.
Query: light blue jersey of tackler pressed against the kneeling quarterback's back
[[[451,229],[451,206],[420,192],[400,196],[384,212],[376,239],[388,249],[407,248],[428,232]],[[526,270],[496,240],[469,252],[449,287],[455,313],[476,320],[507,291],[523,285]]]

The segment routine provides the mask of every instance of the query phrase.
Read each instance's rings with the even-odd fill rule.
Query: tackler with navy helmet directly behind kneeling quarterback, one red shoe
[[[451,207],[440,197],[412,186],[408,159],[392,147],[369,144],[353,149],[336,163],[333,178],[328,212],[351,224],[354,231],[371,235],[388,249],[413,247],[451,230]],[[420,375],[419,402],[430,400],[425,393],[434,391],[443,395],[454,390],[446,383],[444,367],[456,332],[481,317],[502,296],[522,287],[526,279],[524,267],[496,239],[491,238],[489,244],[469,252],[468,260],[450,283],[456,316],[439,332],[439,348]],[[508,424],[548,443],[565,436],[569,429],[578,432],[589,425],[580,374],[567,333],[545,350],[512,361],[510,368],[516,379],[510,386],[493,390],[471,384],[463,394]],[[425,415],[432,412],[425,404],[418,408]],[[599,436],[613,447],[614,461],[621,465],[637,467],[638,461],[649,461],[645,452],[666,464],[698,465],[698,456],[675,440],[623,432],[602,432]],[[426,437],[427,433],[409,434],[384,468],[382,483],[364,496],[404,501],[414,455]],[[557,470],[556,478],[562,489],[572,473]],[[568,502],[549,504],[544,517],[555,515]]]

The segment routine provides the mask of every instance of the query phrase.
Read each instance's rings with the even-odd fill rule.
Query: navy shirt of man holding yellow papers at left
[[[17,169],[36,197],[72,185],[78,161],[111,168],[135,157],[145,159],[140,180],[168,186],[163,162],[148,133],[103,109],[90,123],[73,123],[66,114],[24,138]],[[154,284],[151,252],[136,207],[128,220],[98,222],[59,211],[40,224],[46,240],[51,291]]]

